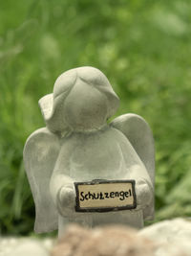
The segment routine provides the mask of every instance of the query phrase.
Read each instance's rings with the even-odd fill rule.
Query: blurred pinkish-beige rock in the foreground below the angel
[[[152,256],[154,251],[154,243],[138,237],[132,228],[117,225],[88,230],[71,225],[52,256]]]

